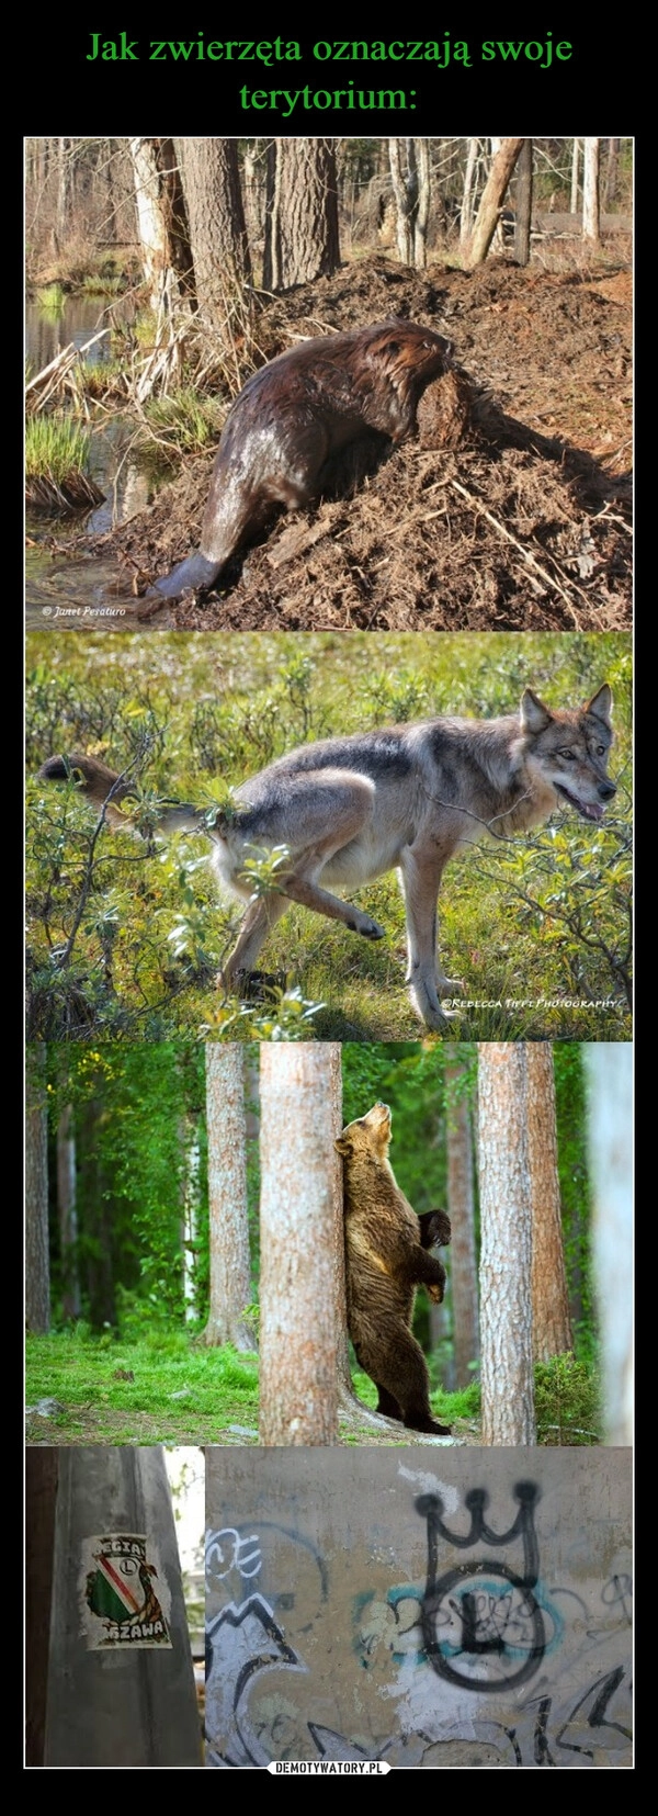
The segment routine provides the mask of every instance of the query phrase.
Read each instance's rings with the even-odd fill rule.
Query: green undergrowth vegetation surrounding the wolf
[[[29,1039],[404,1041],[404,912],[393,875],[355,899],[379,944],[290,908],[263,952],[277,988],[239,1004],[216,988],[241,906],[219,899],[210,844],[152,837],[161,797],[212,810],[295,745],[435,714],[491,717],[526,685],[575,706],[609,681],[614,804],[575,812],[448,868],[440,952],[464,979],[455,1039],[629,1039],[629,639],[600,636],[169,636],[27,639]],[[53,754],[131,772],[141,837],[98,826],[74,781],[36,779]],[[270,863],[270,859],[266,859]],[[254,883],[257,886],[257,877]]]

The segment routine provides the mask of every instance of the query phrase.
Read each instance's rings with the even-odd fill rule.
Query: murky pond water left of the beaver
[[[82,349],[103,327],[129,321],[129,298],[63,298],[62,311],[40,301],[25,307],[25,358],[33,374],[40,372],[63,347]],[[111,358],[112,336],[96,340],[85,360],[103,365]],[[25,623],[29,630],[145,630],[156,628],[136,616],[138,601],[123,592],[125,581],[116,561],[82,556],[80,530],[98,536],[145,510],[158,490],[158,476],[132,452],[134,419],[107,416],[92,409],[89,472],[103,492],[103,503],[69,516],[27,510],[25,548]],[[167,619],[167,623],[165,623]],[[158,612],[158,630],[169,630],[170,614]]]

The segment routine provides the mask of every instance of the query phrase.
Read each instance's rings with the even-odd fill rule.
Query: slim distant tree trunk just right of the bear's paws
[[[468,1070],[459,1061],[446,1061],[448,1095],[448,1213],[451,1220],[450,1286],[453,1300],[455,1386],[468,1387],[473,1380],[469,1362],[480,1358],[480,1329],[477,1308],[475,1257],[475,1202],[473,1202],[473,1137],[471,1106],[466,1095]]]

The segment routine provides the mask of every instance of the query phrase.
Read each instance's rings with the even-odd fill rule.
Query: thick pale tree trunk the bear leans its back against
[[[335,1084],[332,1044],[261,1046],[259,1435],[266,1446],[337,1438]]]

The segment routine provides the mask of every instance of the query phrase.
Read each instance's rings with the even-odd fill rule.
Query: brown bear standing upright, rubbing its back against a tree
[[[377,1413],[444,1438],[450,1426],[431,1416],[428,1366],[411,1318],[421,1282],[437,1306],[444,1297],[446,1269],[428,1249],[450,1242],[450,1217],[417,1217],[395,1184],[390,1139],[390,1108],[375,1104],[335,1142],[344,1177],[348,1329],[359,1367],[375,1382]]]

